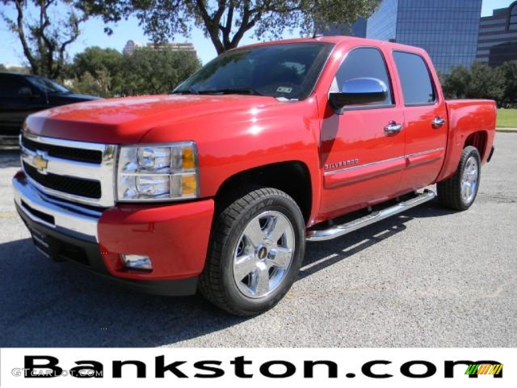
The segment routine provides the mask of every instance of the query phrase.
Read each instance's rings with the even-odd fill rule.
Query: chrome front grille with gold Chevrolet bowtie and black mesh
[[[115,204],[116,145],[23,133],[20,147],[29,182],[47,195],[99,207]]]

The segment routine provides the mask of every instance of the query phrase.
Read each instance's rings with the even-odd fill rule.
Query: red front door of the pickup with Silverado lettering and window
[[[381,50],[357,47],[349,51],[330,92],[341,91],[344,82],[355,78],[383,81],[388,97],[374,105],[346,107],[342,114],[327,107],[321,132],[324,217],[393,197],[405,167],[403,112],[396,104]]]

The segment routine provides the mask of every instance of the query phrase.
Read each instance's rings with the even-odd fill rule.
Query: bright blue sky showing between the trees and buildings
[[[430,0],[432,1],[432,0]],[[514,0],[483,0],[481,16],[491,16],[492,10],[497,8],[508,7]],[[13,16],[14,12],[11,7],[7,7],[0,2],[0,9],[5,11],[8,16]],[[113,48],[122,51],[126,42],[130,39],[145,43],[149,39],[144,35],[142,27],[138,25],[138,20],[130,18],[127,21],[121,21],[115,25],[110,24],[113,28],[113,35],[108,36],[104,33],[102,20],[90,19],[86,23],[81,24],[81,35],[79,39],[70,44],[68,54],[73,57],[74,54],[84,51],[89,46],[99,46],[101,48]],[[255,42],[251,34],[248,33],[241,40],[241,45]],[[285,34],[284,38],[290,38],[294,35]],[[197,50],[203,64],[214,58],[217,53],[212,43],[199,30],[194,30],[190,38],[177,35],[174,39],[176,42],[192,42]],[[8,31],[4,21],[0,21],[0,63],[7,66],[20,66],[24,64],[25,58],[22,53],[20,41]]]

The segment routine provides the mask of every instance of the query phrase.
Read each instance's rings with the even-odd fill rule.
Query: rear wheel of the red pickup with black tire
[[[475,182],[472,181],[469,183],[472,186],[470,191],[462,192],[462,185],[467,185],[465,182],[465,174],[467,172],[465,170],[472,168],[474,165],[473,163],[476,166],[476,173],[471,173],[469,175],[472,176]],[[458,169],[454,172],[454,175],[449,179],[436,184],[439,202],[454,210],[467,210],[476,199],[480,178],[481,158],[477,148],[469,145],[462,151],[460,163],[458,165]],[[473,183],[474,185],[472,185]],[[469,193],[468,196],[466,195],[467,193]]]

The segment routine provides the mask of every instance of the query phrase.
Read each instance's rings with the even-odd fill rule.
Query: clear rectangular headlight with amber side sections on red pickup
[[[193,142],[122,146],[117,166],[118,201],[197,197],[197,153]]]

